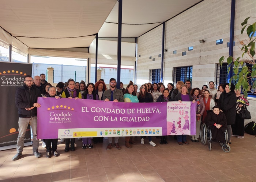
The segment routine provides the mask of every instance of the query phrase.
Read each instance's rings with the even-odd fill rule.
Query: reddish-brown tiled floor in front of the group
[[[230,153],[222,151],[218,143],[208,145],[193,143],[178,145],[168,136],[168,145],[152,147],[145,140],[134,138],[138,143],[131,149],[124,146],[120,138],[121,150],[112,147],[106,150],[108,140],[94,145],[94,149],[82,149],[82,142],[76,141],[74,152],[64,152],[64,143],[58,145],[59,157],[45,157],[41,146],[41,158],[35,158],[32,147],[25,147],[23,156],[12,161],[16,150],[0,151],[0,181],[8,182],[48,182],[48,181],[229,181],[256,182],[256,138],[245,134],[245,138],[231,137]]]

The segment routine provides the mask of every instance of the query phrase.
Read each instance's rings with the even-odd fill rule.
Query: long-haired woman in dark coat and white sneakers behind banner
[[[138,95],[138,99],[139,102],[153,102],[153,97],[150,93],[147,92],[147,86],[146,84],[142,85],[140,87],[140,92]],[[150,145],[152,145],[153,147],[155,146],[155,143],[152,141],[152,137],[148,136],[148,142],[150,143]],[[140,143],[144,144],[144,137],[140,137]]]

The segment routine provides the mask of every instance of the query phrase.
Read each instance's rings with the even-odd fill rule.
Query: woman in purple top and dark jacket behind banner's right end
[[[192,102],[192,103],[196,102],[195,100],[193,100],[192,96],[188,94],[188,87],[186,85],[182,85],[180,87],[180,93],[174,98],[174,101],[178,101],[180,103],[181,102]],[[186,118],[186,120],[187,120],[187,118]],[[188,124],[189,123],[186,122],[182,129],[185,130],[186,128],[188,128],[189,127]],[[182,142],[188,145],[187,135],[183,135],[183,134],[177,135],[177,141],[178,141],[179,145],[182,145]]]

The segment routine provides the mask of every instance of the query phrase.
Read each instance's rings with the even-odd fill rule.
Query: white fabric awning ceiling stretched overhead
[[[122,37],[138,37],[198,2],[123,0]],[[89,47],[96,33],[117,37],[116,23],[117,0],[1,0],[0,27],[29,48]],[[3,29],[0,39],[11,40]]]

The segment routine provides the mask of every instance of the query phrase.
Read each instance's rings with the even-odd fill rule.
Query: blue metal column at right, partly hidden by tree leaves
[[[235,10],[236,10],[236,0],[231,0],[231,16],[230,16],[230,37],[229,37],[229,56],[233,56],[233,46],[234,46],[234,25],[235,25]],[[230,72],[227,76],[227,82],[233,76],[233,63],[229,64]]]

